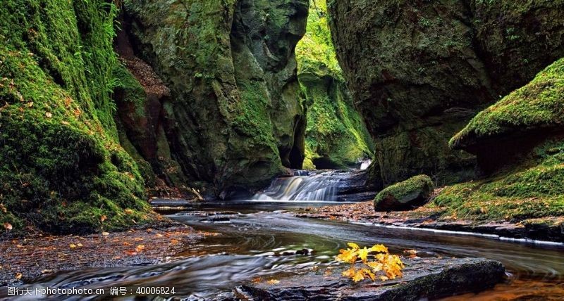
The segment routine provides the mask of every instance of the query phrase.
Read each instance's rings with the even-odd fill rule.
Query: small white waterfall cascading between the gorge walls
[[[280,178],[272,182],[269,188],[257,193],[253,200],[302,200],[328,201],[336,200],[338,179],[332,172],[312,174],[299,170],[294,177]]]

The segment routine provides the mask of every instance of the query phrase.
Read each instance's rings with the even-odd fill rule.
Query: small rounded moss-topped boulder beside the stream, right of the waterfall
[[[433,180],[420,174],[380,191],[374,198],[376,211],[411,210],[424,205],[434,191]]]

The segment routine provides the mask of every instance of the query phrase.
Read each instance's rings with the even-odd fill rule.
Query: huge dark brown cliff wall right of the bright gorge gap
[[[385,184],[469,177],[448,139],[564,56],[564,1],[332,1],[330,26]],[[354,22],[351,22],[354,20]]]

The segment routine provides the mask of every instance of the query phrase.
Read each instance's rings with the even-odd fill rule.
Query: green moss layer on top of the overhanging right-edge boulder
[[[564,122],[564,58],[539,73],[532,82],[483,110],[462,129],[450,146],[457,147],[470,137],[510,134],[541,127],[558,127]]]

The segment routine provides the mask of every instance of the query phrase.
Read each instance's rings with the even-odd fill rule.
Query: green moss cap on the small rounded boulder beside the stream
[[[413,195],[414,193],[419,195],[423,193],[425,196],[430,196],[434,190],[433,180],[427,175],[419,174],[418,176],[411,177],[405,181],[393,184],[384,188],[380,191],[376,198],[374,198],[374,203],[377,204],[381,200],[386,198],[393,198],[395,200],[403,200],[407,196]]]

